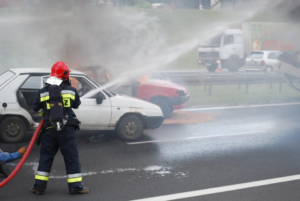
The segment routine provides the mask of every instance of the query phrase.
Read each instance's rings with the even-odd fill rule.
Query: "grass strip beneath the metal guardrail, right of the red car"
[[[300,94],[291,89],[287,84],[282,85],[282,92],[279,93],[279,84],[253,84],[249,85],[249,92],[246,94],[245,85],[223,85],[212,86],[212,94],[208,95],[204,86],[188,86],[187,90],[191,99],[187,106],[214,106],[214,105],[251,105],[251,104],[273,104],[299,102]]]

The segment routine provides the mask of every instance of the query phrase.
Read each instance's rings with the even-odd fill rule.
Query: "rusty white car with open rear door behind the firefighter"
[[[10,69],[0,75],[0,138],[7,143],[24,139],[26,131],[37,128],[42,119],[33,111],[33,99],[44,87],[51,69]],[[100,87],[86,74],[72,70],[72,86],[83,96]],[[124,140],[137,140],[144,129],[158,128],[163,120],[159,106],[130,96],[100,90],[90,98],[82,98],[73,109],[83,122],[81,130],[116,130]]]

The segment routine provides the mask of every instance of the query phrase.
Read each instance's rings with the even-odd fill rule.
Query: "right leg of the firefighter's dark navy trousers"
[[[59,138],[60,152],[64,156],[66,166],[67,180],[69,189],[82,189],[81,185],[81,165],[79,162],[79,154],[77,150],[77,139],[75,128],[73,126],[65,126],[61,131]]]

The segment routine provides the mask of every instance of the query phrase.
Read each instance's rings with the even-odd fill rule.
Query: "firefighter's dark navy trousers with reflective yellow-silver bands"
[[[42,135],[40,160],[34,187],[46,188],[53,159],[58,149],[64,156],[69,189],[82,189],[81,165],[73,126],[65,126],[62,131],[57,131],[53,127],[45,130]]]

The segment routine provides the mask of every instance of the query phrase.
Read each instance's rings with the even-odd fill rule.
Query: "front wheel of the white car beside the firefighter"
[[[127,141],[135,141],[139,139],[144,131],[144,124],[142,120],[130,114],[122,118],[117,125],[117,134],[121,139]]]

